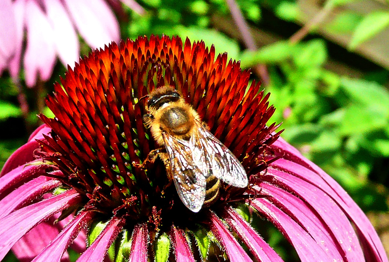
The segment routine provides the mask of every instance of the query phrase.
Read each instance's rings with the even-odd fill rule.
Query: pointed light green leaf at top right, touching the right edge
[[[377,35],[389,25],[389,12],[376,11],[366,15],[355,29],[349,43],[351,50]]]

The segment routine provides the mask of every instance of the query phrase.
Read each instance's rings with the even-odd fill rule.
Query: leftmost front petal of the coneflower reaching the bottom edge
[[[92,212],[81,212],[32,262],[59,262],[70,243],[92,217]]]

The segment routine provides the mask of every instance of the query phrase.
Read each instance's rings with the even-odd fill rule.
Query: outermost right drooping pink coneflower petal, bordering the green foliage
[[[388,261],[384,247],[382,246],[380,238],[378,237],[374,227],[371,225],[366,215],[364,215],[361,208],[332,177],[321,170],[321,168],[317,167],[317,165],[304,158],[296,148],[287,144],[287,142],[283,139],[277,140],[272,145],[272,148],[279,153],[284,154],[283,158],[285,160],[290,160],[302,167],[305,167],[305,169],[302,169],[298,172],[298,174],[294,175],[301,177],[303,180],[309,181],[317,187],[320,187],[324,193],[328,194],[328,196],[331,197],[340,208],[342,208],[347,217],[354,222],[357,227],[357,233],[359,233],[358,236],[361,239],[361,242],[366,243],[364,248],[366,249],[365,252],[371,254],[369,259],[374,258],[377,261]],[[279,164],[287,164],[287,162]],[[288,167],[283,168],[288,170]],[[289,169],[291,168],[292,167],[289,167]]]

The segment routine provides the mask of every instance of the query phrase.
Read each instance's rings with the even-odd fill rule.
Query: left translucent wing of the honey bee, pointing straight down
[[[187,208],[198,212],[203,206],[207,185],[203,174],[205,157],[191,141],[177,139],[165,132],[162,136],[178,195]]]

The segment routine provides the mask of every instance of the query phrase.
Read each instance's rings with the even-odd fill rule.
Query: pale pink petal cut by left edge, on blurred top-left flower
[[[16,42],[16,21],[11,0],[0,1],[0,60],[7,64]]]

